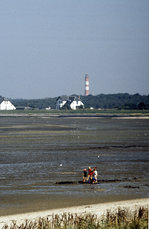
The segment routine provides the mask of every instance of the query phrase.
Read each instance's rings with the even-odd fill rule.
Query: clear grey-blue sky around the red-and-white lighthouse
[[[149,94],[149,0],[0,0],[0,95]]]

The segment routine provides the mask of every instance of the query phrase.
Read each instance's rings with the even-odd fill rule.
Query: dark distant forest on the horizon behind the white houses
[[[128,93],[119,94],[99,94],[80,96],[85,108],[95,109],[149,109],[149,95]],[[29,107],[31,109],[45,109],[51,107],[55,109],[57,97],[45,99],[10,99],[18,108]]]

